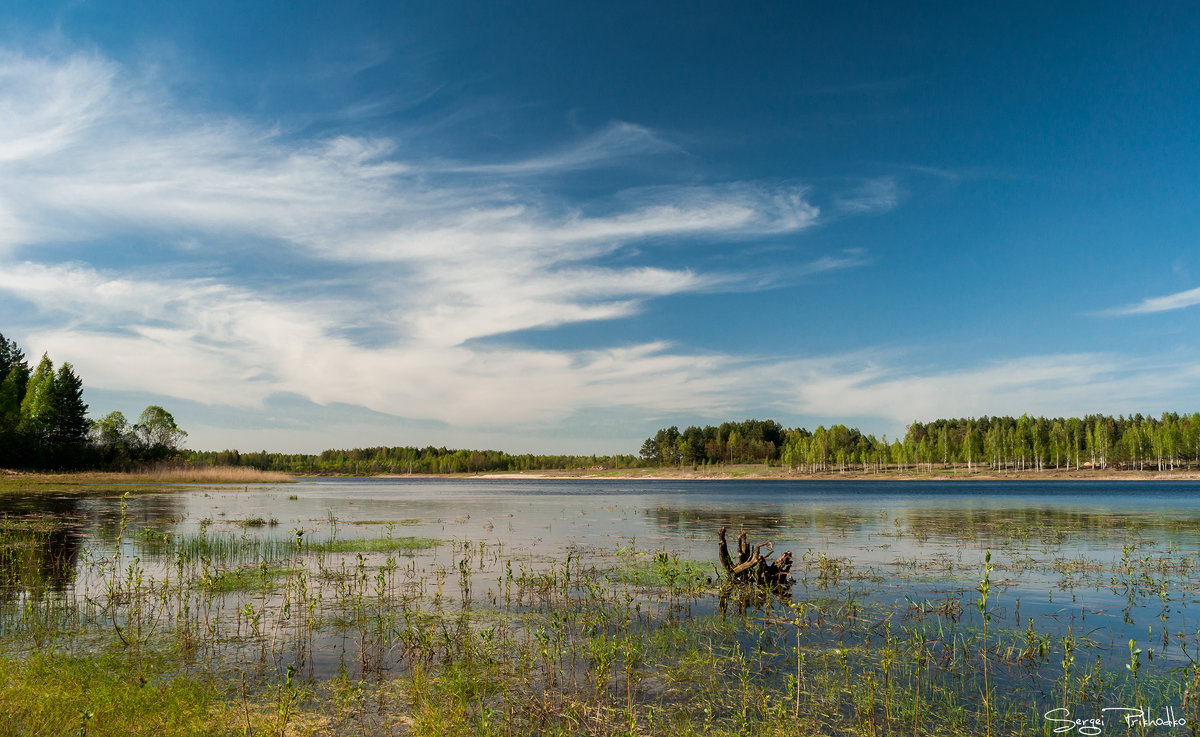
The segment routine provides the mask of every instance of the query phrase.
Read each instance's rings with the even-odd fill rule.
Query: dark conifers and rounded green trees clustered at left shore
[[[0,467],[127,469],[174,460],[186,436],[156,405],[133,424],[120,412],[90,419],[74,366],[55,368],[43,354],[30,368],[17,342],[0,334]]]

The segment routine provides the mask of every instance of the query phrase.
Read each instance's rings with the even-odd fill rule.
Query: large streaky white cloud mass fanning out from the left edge
[[[388,139],[293,142],[185,113],[94,56],[0,56],[0,292],[31,306],[32,352],[70,358],[109,391],[239,407],[295,394],[493,426],[614,405],[733,412],[758,385],[738,368],[745,359],[665,342],[538,350],[473,338],[752,288],[745,274],[605,257],[798,233],[820,218],[803,187],[666,186],[571,204],[534,186],[671,150],[631,124],[512,163],[446,167]],[[112,265],[98,244],[114,240],[154,268]],[[47,259],[47,245],[70,260]],[[277,264],[276,284],[252,288],[236,269],[194,274],[197,258],[247,248]],[[329,278],[300,287],[301,258]],[[390,337],[348,337],[371,329]]]

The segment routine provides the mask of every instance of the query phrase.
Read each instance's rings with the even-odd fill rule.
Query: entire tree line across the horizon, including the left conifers
[[[1175,471],[1200,466],[1200,413],[1082,418],[1022,414],[914,421],[902,439],[876,438],[836,424],[785,430],[775,420],[664,427],[634,455],[512,455],[448,448],[330,449],[319,455],[182,451],[187,432],[151,405],[130,425],[120,412],[89,421],[83,382],[71,364],[43,355],[32,371],[16,342],[0,335],[0,467],[116,468],[185,459],[199,466],[354,475],[617,469],[638,466],[781,463],[792,472],[994,472],[1124,468]]]

